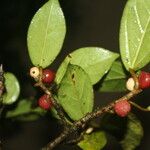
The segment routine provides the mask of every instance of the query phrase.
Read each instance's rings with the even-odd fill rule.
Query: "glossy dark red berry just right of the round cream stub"
[[[44,69],[42,72],[42,82],[52,83],[55,79],[55,72],[49,69]]]

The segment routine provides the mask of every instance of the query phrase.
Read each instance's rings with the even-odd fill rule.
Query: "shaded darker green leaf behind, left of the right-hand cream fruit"
[[[126,77],[127,75],[121,62],[116,61],[113,63],[98,90],[101,92],[126,91]]]

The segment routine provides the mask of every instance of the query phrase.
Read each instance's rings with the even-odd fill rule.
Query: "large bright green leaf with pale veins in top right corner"
[[[120,50],[127,70],[150,62],[150,0],[128,0],[121,20]]]

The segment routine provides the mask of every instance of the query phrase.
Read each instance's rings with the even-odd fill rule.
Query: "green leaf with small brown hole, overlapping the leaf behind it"
[[[60,83],[58,100],[73,120],[78,120],[93,109],[93,88],[86,72],[75,65],[68,69]]]

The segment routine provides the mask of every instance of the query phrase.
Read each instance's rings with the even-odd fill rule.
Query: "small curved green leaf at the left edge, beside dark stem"
[[[10,72],[4,73],[6,93],[2,96],[4,104],[14,103],[20,94],[20,86],[17,78]]]

